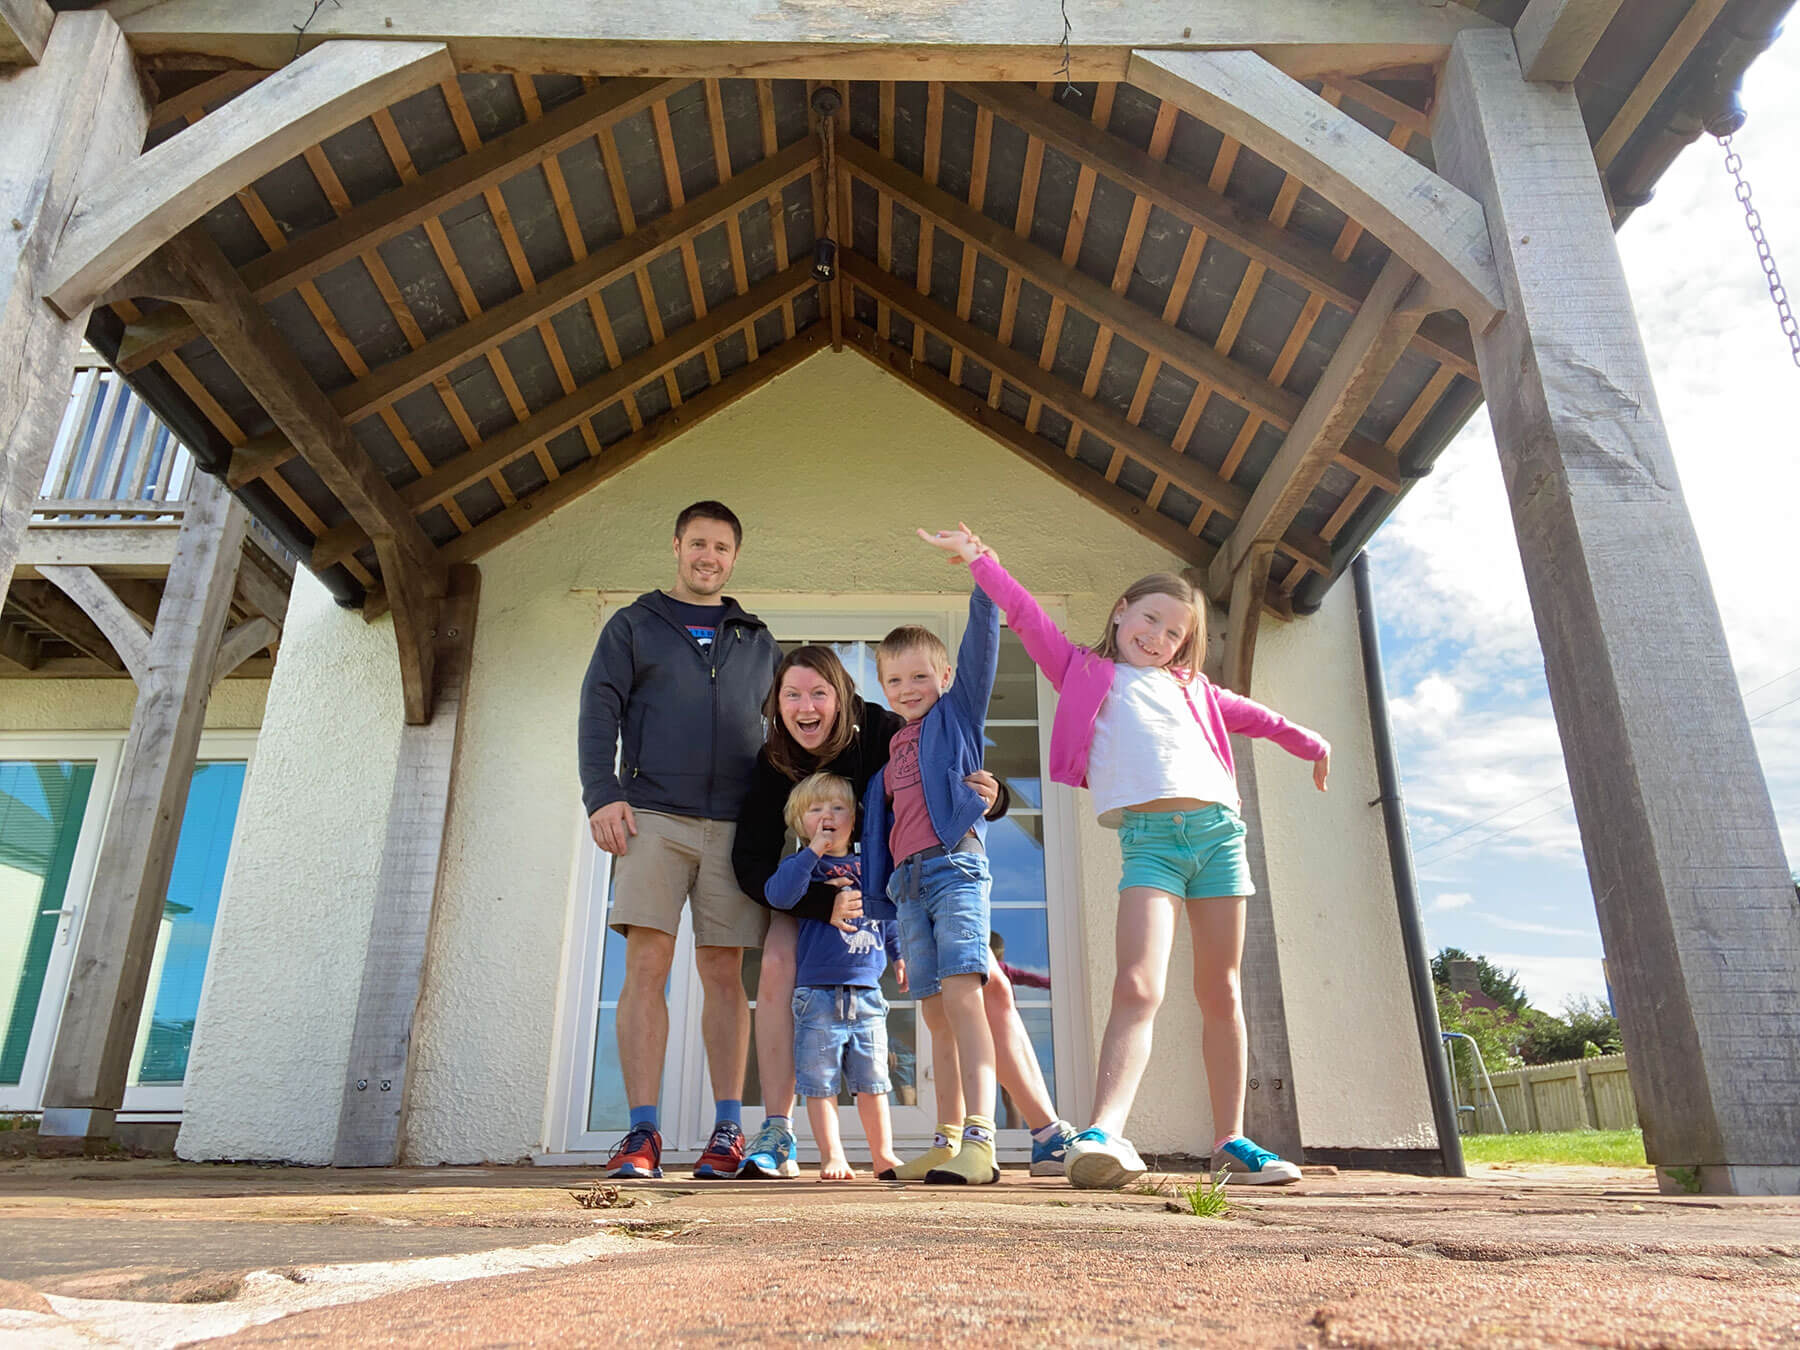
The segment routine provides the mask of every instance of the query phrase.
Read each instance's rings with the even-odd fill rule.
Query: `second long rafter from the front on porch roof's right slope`
[[[949,230],[988,254],[1013,272],[1030,277],[1031,284],[1048,292],[1053,299],[1080,310],[1096,319],[1114,333],[1123,335],[1152,356],[1186,374],[1195,383],[1219,391],[1244,407],[1256,409],[1276,427],[1291,427],[1300,416],[1301,398],[1280,385],[1264,380],[1255,371],[1220,356],[1213,344],[1192,333],[1165,324],[1134,301],[1118,295],[1103,281],[1089,277],[1080,268],[1064,263],[1046,248],[1028,239],[1021,239],[1010,229],[976,211],[967,202],[959,202],[949,193],[932,187],[923,178],[909,173],[893,160],[886,160],[873,149],[853,139],[842,139],[837,146],[842,164],[857,175],[875,184],[880,191],[902,200],[920,218],[931,220],[936,227]],[[968,254],[967,257],[972,257]],[[965,268],[972,277],[972,268]],[[1346,452],[1346,461],[1366,457],[1373,464],[1393,461],[1393,455],[1366,443],[1355,443]],[[1399,481],[1399,463],[1390,464],[1390,473]]]

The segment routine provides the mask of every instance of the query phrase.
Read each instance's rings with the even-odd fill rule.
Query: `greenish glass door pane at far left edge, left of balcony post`
[[[25,1069],[31,1028],[68,904],[92,763],[0,763],[0,1084]],[[50,911],[50,913],[43,913]]]

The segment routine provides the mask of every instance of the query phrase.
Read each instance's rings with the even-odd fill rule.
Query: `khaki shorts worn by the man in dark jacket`
[[[738,889],[731,869],[736,821],[635,812],[637,833],[612,864],[614,932],[632,927],[675,934],[682,902],[693,904],[695,947],[761,947],[769,911]]]

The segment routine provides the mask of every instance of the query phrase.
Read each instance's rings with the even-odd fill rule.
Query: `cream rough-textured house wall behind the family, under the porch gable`
[[[666,585],[675,511],[702,495],[743,518],[738,592],[954,594],[961,574],[927,554],[911,529],[961,517],[1033,590],[1066,599],[1073,630],[1089,639],[1129,581],[1175,562],[860,358],[828,353],[482,558],[473,675],[414,1030],[409,1161],[508,1161],[544,1147],[547,1085],[560,1067],[551,1062],[553,1037],[581,814],[576,698],[598,634],[594,592]],[[799,524],[797,513],[808,509],[828,524]],[[313,592],[290,617],[270,688],[230,913],[221,914],[202,1013],[185,1156],[329,1156],[400,693],[387,625],[364,626]],[[1312,679],[1307,671],[1336,679],[1339,666],[1354,666],[1354,646],[1341,661],[1321,655],[1341,643],[1336,626],[1321,626],[1310,641],[1298,637],[1301,630],[1264,639],[1267,664],[1301,668],[1296,686]],[[1289,655],[1278,655],[1283,650]],[[1316,697],[1287,711],[1325,724],[1343,700],[1359,706],[1359,675],[1341,698]],[[1325,729],[1339,747],[1350,740],[1336,725]],[[1366,725],[1359,734],[1366,742]],[[1274,765],[1267,778],[1278,778]],[[1289,848],[1296,832],[1310,839],[1318,817],[1282,805],[1292,797],[1285,787],[1271,796],[1280,803],[1265,812],[1283,832],[1282,842],[1271,832],[1271,853]],[[1366,828],[1366,848],[1379,850],[1379,815],[1348,828]],[[1098,1040],[1112,976],[1118,848],[1085,812],[1076,832],[1089,1030]],[[1343,871],[1343,848],[1301,848],[1280,873],[1276,886],[1298,896],[1278,911],[1291,988],[1319,985],[1345,950],[1330,927],[1285,922],[1287,904],[1316,904],[1310,896]],[[1370,880],[1370,895],[1384,882],[1386,871]],[[1375,949],[1397,949],[1388,896],[1384,929],[1377,905],[1368,905]],[[1132,1129],[1147,1148],[1204,1152],[1211,1132],[1184,949],[1183,934]],[[1363,992],[1377,1010],[1373,1022],[1397,1026],[1388,1003],[1406,1006],[1404,979],[1395,976],[1391,990],[1375,983]],[[274,1004],[270,990],[284,995],[284,1008],[239,1006]],[[1400,1082],[1408,1071],[1418,1076],[1417,1062],[1390,1066],[1393,1082],[1348,1082],[1332,1067],[1343,1053],[1328,1024],[1337,1010],[1296,994],[1289,1010],[1309,1037],[1319,1028],[1328,1039],[1307,1046],[1300,1082],[1301,1109],[1328,1127],[1328,1143],[1395,1141],[1393,1120],[1404,1107],[1393,1102],[1409,1100],[1408,1093],[1420,1103],[1418,1118],[1429,1120],[1422,1085]],[[1073,1094],[1073,1085],[1066,1089]]]

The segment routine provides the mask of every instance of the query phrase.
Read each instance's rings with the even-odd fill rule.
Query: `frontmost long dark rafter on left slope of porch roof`
[[[563,103],[535,122],[517,126],[448,164],[421,173],[392,193],[382,193],[335,221],[263,254],[243,268],[243,281],[259,301],[369,254],[409,229],[499,187],[536,164],[554,158],[578,140],[599,135],[682,88],[680,81],[614,79]],[[126,326],[117,369],[130,374],[200,335],[180,310],[157,310]]]

